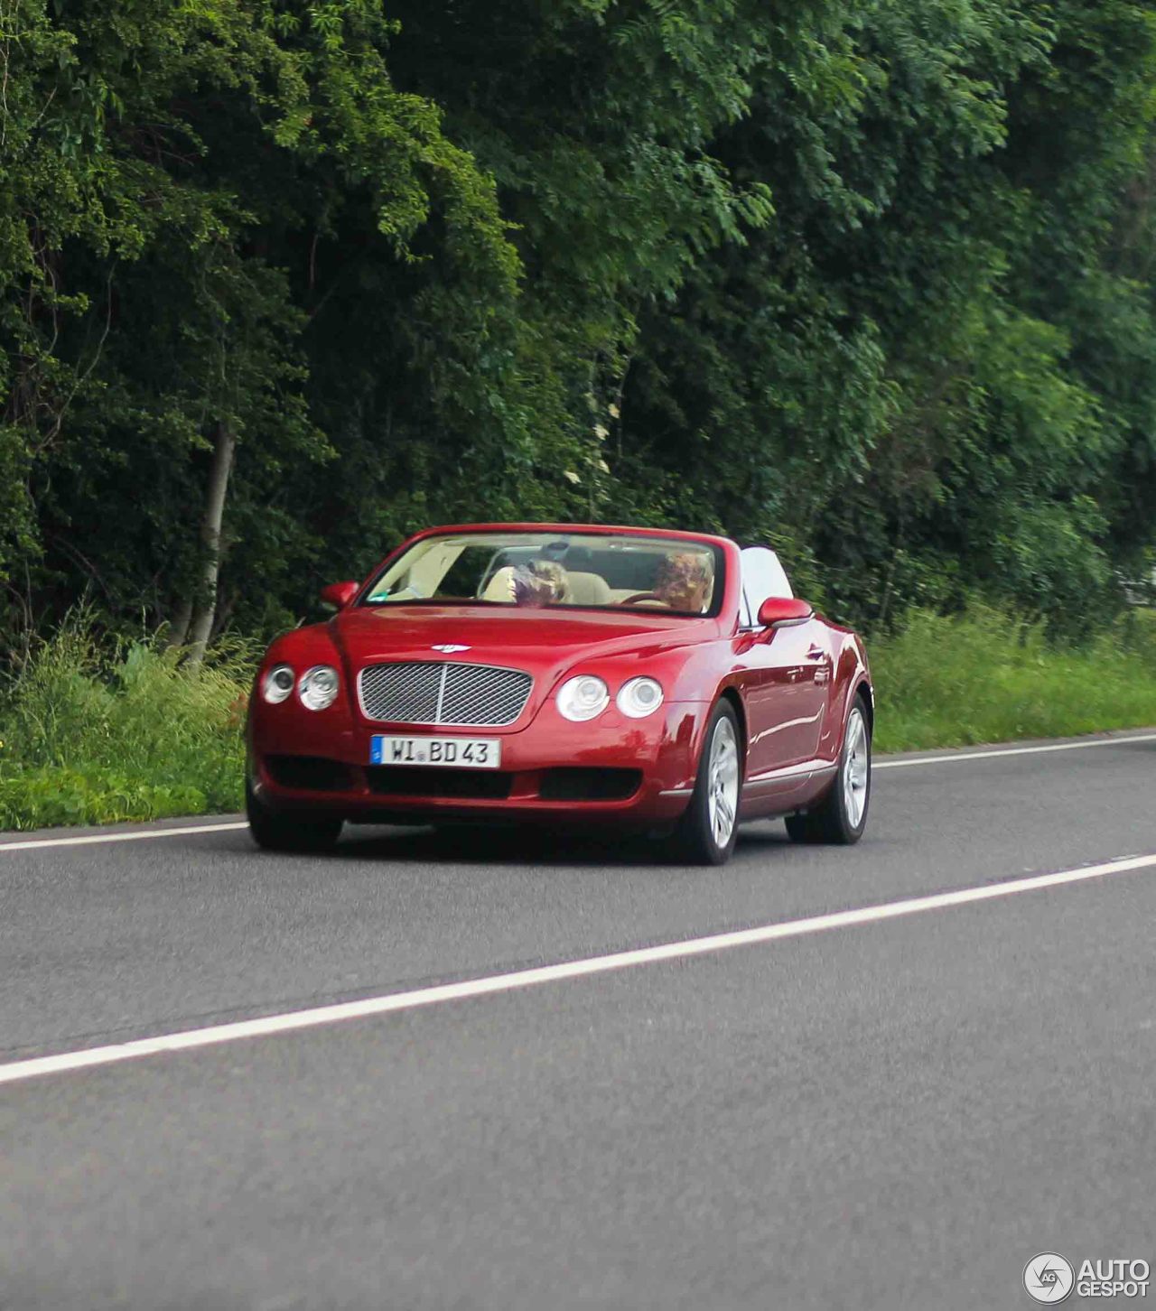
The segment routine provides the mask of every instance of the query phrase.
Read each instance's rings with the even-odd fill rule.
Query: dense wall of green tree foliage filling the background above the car
[[[1134,0],[0,0],[0,652],[397,538],[773,541],[1052,635],[1156,544]]]

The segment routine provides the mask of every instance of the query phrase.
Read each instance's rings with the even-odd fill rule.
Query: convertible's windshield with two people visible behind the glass
[[[574,606],[714,615],[722,552],[615,532],[460,532],[425,538],[374,582],[363,606]]]

